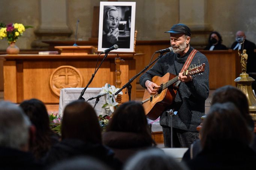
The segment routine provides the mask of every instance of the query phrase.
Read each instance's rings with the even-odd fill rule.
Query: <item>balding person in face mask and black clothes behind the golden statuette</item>
[[[243,40],[244,40],[244,44],[242,45],[241,43]],[[242,53],[243,47],[244,47],[244,50],[246,50],[246,53],[248,55],[246,72],[247,73],[256,72],[256,67],[254,66],[254,64],[256,63],[256,59],[255,59],[256,56],[254,53],[254,49],[256,49],[256,46],[253,42],[248,41],[246,39],[246,36],[243,31],[237,31],[236,41],[232,44],[231,49],[240,50],[240,53]]]

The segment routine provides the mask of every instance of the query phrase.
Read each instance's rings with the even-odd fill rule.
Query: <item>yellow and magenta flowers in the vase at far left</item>
[[[32,26],[24,26],[23,24],[18,23],[8,25],[0,23],[0,39],[2,40],[3,38],[6,38],[9,44],[16,42],[27,28],[32,28]]]

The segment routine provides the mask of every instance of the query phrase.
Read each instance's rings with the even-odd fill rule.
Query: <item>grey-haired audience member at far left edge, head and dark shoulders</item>
[[[35,130],[19,106],[0,102],[0,169],[42,169],[29,152]]]

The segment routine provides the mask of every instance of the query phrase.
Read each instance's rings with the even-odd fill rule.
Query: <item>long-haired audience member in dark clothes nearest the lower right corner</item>
[[[211,106],[201,130],[202,151],[187,165],[191,170],[256,169],[256,153],[249,147],[252,133],[231,103]]]

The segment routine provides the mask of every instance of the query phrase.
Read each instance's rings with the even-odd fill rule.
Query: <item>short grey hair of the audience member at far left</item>
[[[29,142],[29,118],[16,104],[0,102],[0,146],[21,149]]]

